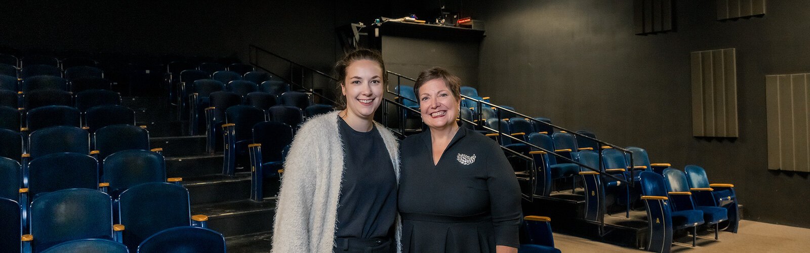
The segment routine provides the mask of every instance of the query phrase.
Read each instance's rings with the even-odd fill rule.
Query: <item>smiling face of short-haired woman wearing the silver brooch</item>
[[[419,88],[419,109],[422,120],[430,128],[443,128],[455,124],[459,103],[444,80],[432,79]]]

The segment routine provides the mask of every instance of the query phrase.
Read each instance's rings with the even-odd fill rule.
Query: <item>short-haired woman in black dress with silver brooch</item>
[[[520,188],[501,147],[459,127],[461,82],[441,67],[414,84],[429,130],[403,140],[403,252],[517,252]]]

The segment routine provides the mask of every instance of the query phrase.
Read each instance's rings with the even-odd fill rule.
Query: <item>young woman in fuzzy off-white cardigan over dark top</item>
[[[276,253],[399,250],[397,141],[373,122],[385,65],[375,51],[358,49],[335,71],[342,108],[301,126],[284,164]]]

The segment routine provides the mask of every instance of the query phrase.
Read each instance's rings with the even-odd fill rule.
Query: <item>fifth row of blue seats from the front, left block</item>
[[[134,125],[134,110],[122,105],[96,105],[84,112],[67,105],[46,105],[28,111],[0,106],[0,129],[23,133],[48,126],[76,126],[95,132],[117,124]]]

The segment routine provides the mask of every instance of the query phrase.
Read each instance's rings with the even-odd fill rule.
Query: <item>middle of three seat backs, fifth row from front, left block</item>
[[[28,111],[28,131],[48,126],[81,126],[82,113],[67,105],[47,105]]]

